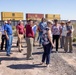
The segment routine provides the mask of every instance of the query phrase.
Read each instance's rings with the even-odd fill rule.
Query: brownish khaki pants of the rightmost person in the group
[[[67,52],[68,51],[68,46],[69,46],[69,52],[72,52],[73,48],[72,48],[72,37],[65,37],[65,46],[64,46],[64,50]]]

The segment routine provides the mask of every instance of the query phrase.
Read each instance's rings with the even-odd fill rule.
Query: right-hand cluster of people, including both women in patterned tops
[[[38,29],[40,37],[39,43],[42,44],[44,49],[42,64],[46,60],[46,65],[48,66],[50,63],[50,53],[54,47],[56,47],[56,53],[58,53],[59,42],[60,48],[63,48],[65,53],[73,52],[72,37],[74,28],[70,20],[59,23],[57,19],[54,21],[46,21],[46,19],[43,18]]]

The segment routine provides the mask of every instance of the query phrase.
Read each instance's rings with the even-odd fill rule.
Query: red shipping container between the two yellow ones
[[[44,14],[34,14],[34,13],[27,13],[26,20],[33,19],[40,21],[44,17]]]

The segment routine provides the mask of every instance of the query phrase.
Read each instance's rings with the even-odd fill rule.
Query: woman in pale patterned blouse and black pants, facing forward
[[[52,33],[53,33],[53,43],[56,40],[56,53],[58,52],[58,46],[59,46],[59,38],[61,36],[62,27],[60,24],[58,24],[58,20],[54,20],[54,25],[52,26]]]

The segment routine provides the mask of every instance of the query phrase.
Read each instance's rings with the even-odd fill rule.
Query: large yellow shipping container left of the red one
[[[1,20],[23,20],[22,12],[1,12]]]

